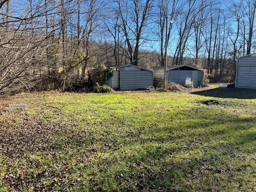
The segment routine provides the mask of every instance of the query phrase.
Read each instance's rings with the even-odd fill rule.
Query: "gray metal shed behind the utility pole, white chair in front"
[[[194,87],[199,87],[202,83],[204,72],[200,69],[188,65],[168,66],[166,73],[168,82],[174,82],[182,86],[185,85],[187,77],[194,82]],[[164,66],[157,67],[154,70],[154,86],[160,86],[164,80]]]

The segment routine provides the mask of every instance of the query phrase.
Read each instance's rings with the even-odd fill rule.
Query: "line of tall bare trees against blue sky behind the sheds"
[[[103,65],[163,66],[166,43],[168,65],[233,81],[256,49],[255,10],[255,0],[0,0],[0,93],[72,90]]]

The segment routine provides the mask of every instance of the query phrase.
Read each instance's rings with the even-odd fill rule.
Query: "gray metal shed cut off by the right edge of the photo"
[[[256,54],[238,58],[236,64],[236,88],[256,89]]]

